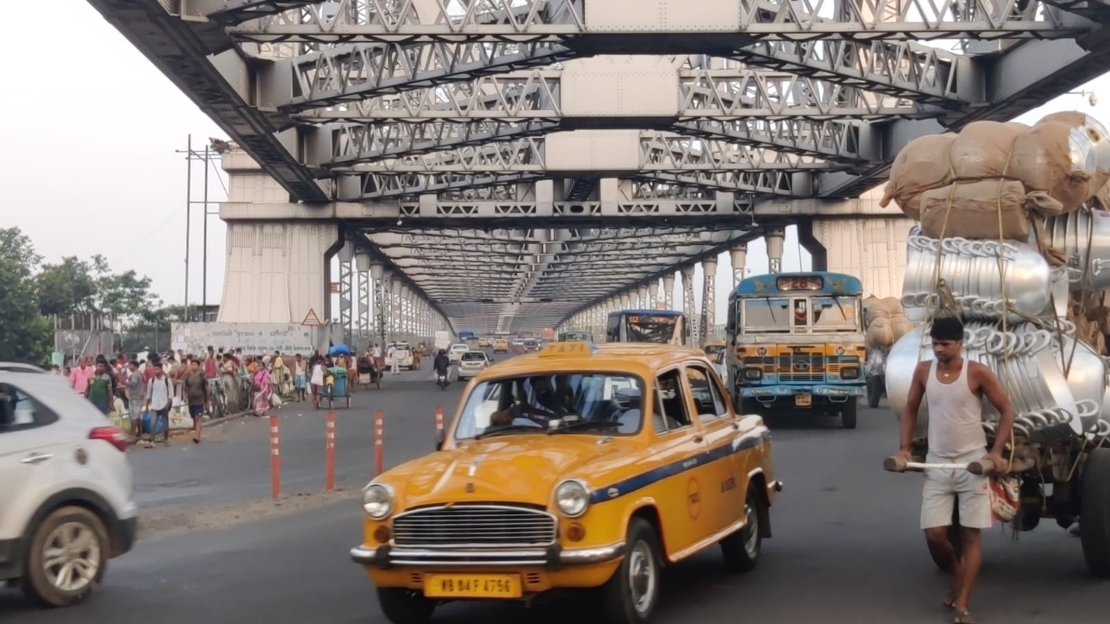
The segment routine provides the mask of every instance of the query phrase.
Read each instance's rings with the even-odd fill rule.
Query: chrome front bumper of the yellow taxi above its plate
[[[569,565],[606,563],[624,556],[625,543],[589,548],[564,548],[558,544],[545,548],[421,548],[416,546],[375,547],[365,545],[351,548],[355,563],[390,570],[396,566],[414,567],[528,567],[561,570]]]

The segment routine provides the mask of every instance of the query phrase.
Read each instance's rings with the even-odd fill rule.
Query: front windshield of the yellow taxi
[[[625,373],[541,373],[474,388],[456,440],[563,432],[632,435],[643,421],[644,383]],[[554,424],[553,424],[554,421]]]

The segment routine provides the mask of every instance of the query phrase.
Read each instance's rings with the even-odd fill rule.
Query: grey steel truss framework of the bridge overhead
[[[1110,60],[1110,0],[89,2],[287,191],[253,218],[342,219],[477,331],[627,302]]]

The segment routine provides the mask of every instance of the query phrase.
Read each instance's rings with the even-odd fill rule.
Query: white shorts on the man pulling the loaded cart
[[[926,456],[927,463],[962,464],[981,460],[987,450],[965,453],[958,457]],[[921,529],[949,526],[957,502],[960,526],[990,529],[990,477],[971,474],[966,470],[927,470],[921,489]]]

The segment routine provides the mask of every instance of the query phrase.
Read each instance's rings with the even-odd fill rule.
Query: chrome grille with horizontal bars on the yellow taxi
[[[403,513],[393,520],[397,546],[547,546],[555,516],[511,505],[452,505]]]

